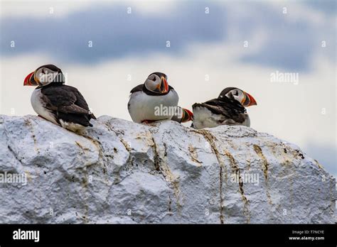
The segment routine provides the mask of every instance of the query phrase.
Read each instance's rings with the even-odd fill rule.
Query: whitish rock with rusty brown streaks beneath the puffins
[[[334,221],[335,179],[267,133],[92,124],[78,135],[38,116],[0,116],[0,173],[27,177],[0,183],[1,224]]]

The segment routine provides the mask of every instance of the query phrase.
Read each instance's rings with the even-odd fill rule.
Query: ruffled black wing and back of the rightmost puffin
[[[203,106],[210,110],[213,114],[220,114],[227,119],[233,119],[237,123],[245,121],[245,107],[239,102],[225,97],[223,100],[210,99],[202,104],[193,104],[195,106]]]

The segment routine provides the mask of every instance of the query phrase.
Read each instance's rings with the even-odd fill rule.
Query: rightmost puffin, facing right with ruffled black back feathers
[[[217,99],[193,104],[193,128],[213,128],[220,125],[250,127],[245,107],[257,105],[255,99],[237,87],[223,89]]]

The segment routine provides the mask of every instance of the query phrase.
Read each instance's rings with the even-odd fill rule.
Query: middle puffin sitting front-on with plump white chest
[[[178,94],[161,72],[151,73],[144,84],[134,87],[130,93],[127,109],[135,123],[170,120],[174,114],[172,109],[178,106]]]

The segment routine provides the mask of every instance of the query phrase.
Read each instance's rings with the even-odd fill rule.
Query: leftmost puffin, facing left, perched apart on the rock
[[[43,65],[29,73],[23,86],[38,86],[31,94],[34,111],[53,124],[70,131],[81,131],[96,119],[82,94],[65,85],[63,72],[55,65]]]

